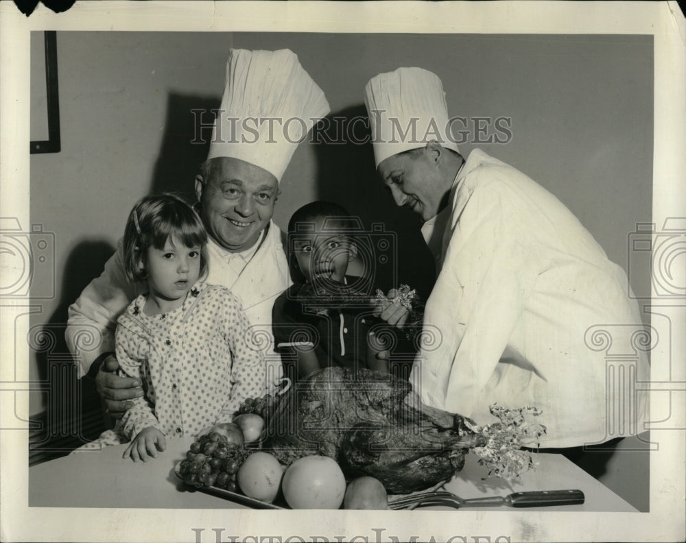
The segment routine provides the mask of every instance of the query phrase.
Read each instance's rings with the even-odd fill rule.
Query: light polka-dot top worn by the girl
[[[265,394],[263,352],[228,289],[198,282],[180,308],[153,316],[143,313],[145,300],[131,302],[116,333],[120,374],[140,378],[145,397],[115,428],[121,439],[105,441],[130,441],[147,426],[194,435]]]

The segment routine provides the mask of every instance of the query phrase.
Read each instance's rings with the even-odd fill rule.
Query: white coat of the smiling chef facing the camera
[[[272,306],[291,285],[291,280],[279,227],[270,222],[260,241],[243,253],[230,253],[209,241],[205,282],[227,287],[241,300],[257,334],[256,339],[266,354],[268,376],[278,380],[281,360],[273,353]],[[101,354],[115,351],[117,318],[131,300],[146,290],[145,282],[134,284],[126,278],[123,249],[119,243],[102,275],[91,281],[78,300],[69,306],[66,339],[80,377],[88,373]]]

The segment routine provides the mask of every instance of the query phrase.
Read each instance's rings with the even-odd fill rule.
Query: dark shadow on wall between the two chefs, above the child
[[[434,286],[434,259],[421,236],[421,221],[409,210],[398,208],[377,177],[366,119],[366,109],[360,104],[332,112],[322,121],[314,145],[319,172],[317,197],[357,215],[365,228],[371,229],[372,239],[389,239],[397,250],[391,258],[396,263],[398,285],[410,285],[426,301]],[[381,224],[383,229],[374,231],[374,224]],[[377,286],[384,290],[397,287],[390,277],[392,269],[388,270],[391,273],[379,274],[379,269],[388,268],[380,265],[383,254],[378,252],[378,243],[376,247],[377,265],[372,271],[378,274]]]

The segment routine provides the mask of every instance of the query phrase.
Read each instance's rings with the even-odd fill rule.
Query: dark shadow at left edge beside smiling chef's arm
[[[67,258],[60,304],[47,323],[29,331],[36,352],[45,410],[31,420],[29,465],[67,455],[104,430],[95,383],[78,379],[64,330],[67,309],[94,277],[102,273],[115,248],[104,241],[83,241]]]

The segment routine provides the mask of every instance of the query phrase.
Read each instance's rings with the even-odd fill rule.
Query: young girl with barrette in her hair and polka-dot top
[[[196,212],[173,195],[144,197],[129,215],[126,273],[149,292],[117,320],[116,354],[121,373],[141,379],[145,397],[101,436],[130,441],[124,458],[157,457],[166,437],[230,422],[245,398],[265,393],[263,354],[239,300],[200,280],[206,241]]]

